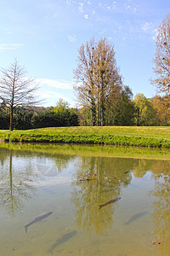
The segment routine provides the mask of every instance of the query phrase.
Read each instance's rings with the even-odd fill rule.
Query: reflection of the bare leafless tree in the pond
[[[20,158],[9,150],[6,158],[0,162],[0,201],[5,210],[14,216],[14,212],[23,208],[26,201],[34,195],[35,187],[31,185],[31,178],[34,176],[31,161],[27,166],[19,168],[13,161],[19,161]],[[20,165],[19,165],[20,166]]]

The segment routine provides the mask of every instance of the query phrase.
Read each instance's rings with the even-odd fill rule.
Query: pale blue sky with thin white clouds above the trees
[[[91,38],[114,45],[123,84],[150,98],[156,32],[169,0],[0,0],[0,67],[17,59],[39,84],[44,107],[59,99],[76,107],[73,70]]]

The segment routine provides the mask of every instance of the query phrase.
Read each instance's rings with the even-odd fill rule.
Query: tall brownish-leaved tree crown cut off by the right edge
[[[156,86],[158,92],[170,94],[170,15],[162,21],[157,32],[156,55],[154,58],[156,79],[151,84]]]

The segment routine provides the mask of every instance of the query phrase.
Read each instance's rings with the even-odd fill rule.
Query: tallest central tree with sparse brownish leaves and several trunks
[[[92,38],[78,52],[74,70],[77,99],[82,107],[90,108],[93,125],[105,125],[105,102],[122,85],[114,47],[106,38],[97,43]]]

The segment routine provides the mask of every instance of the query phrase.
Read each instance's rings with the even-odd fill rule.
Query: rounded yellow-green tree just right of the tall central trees
[[[133,102],[134,107],[136,108],[134,117],[135,125],[159,125],[156,108],[154,108],[153,103],[150,100],[148,100],[143,94],[139,93],[135,96]]]

